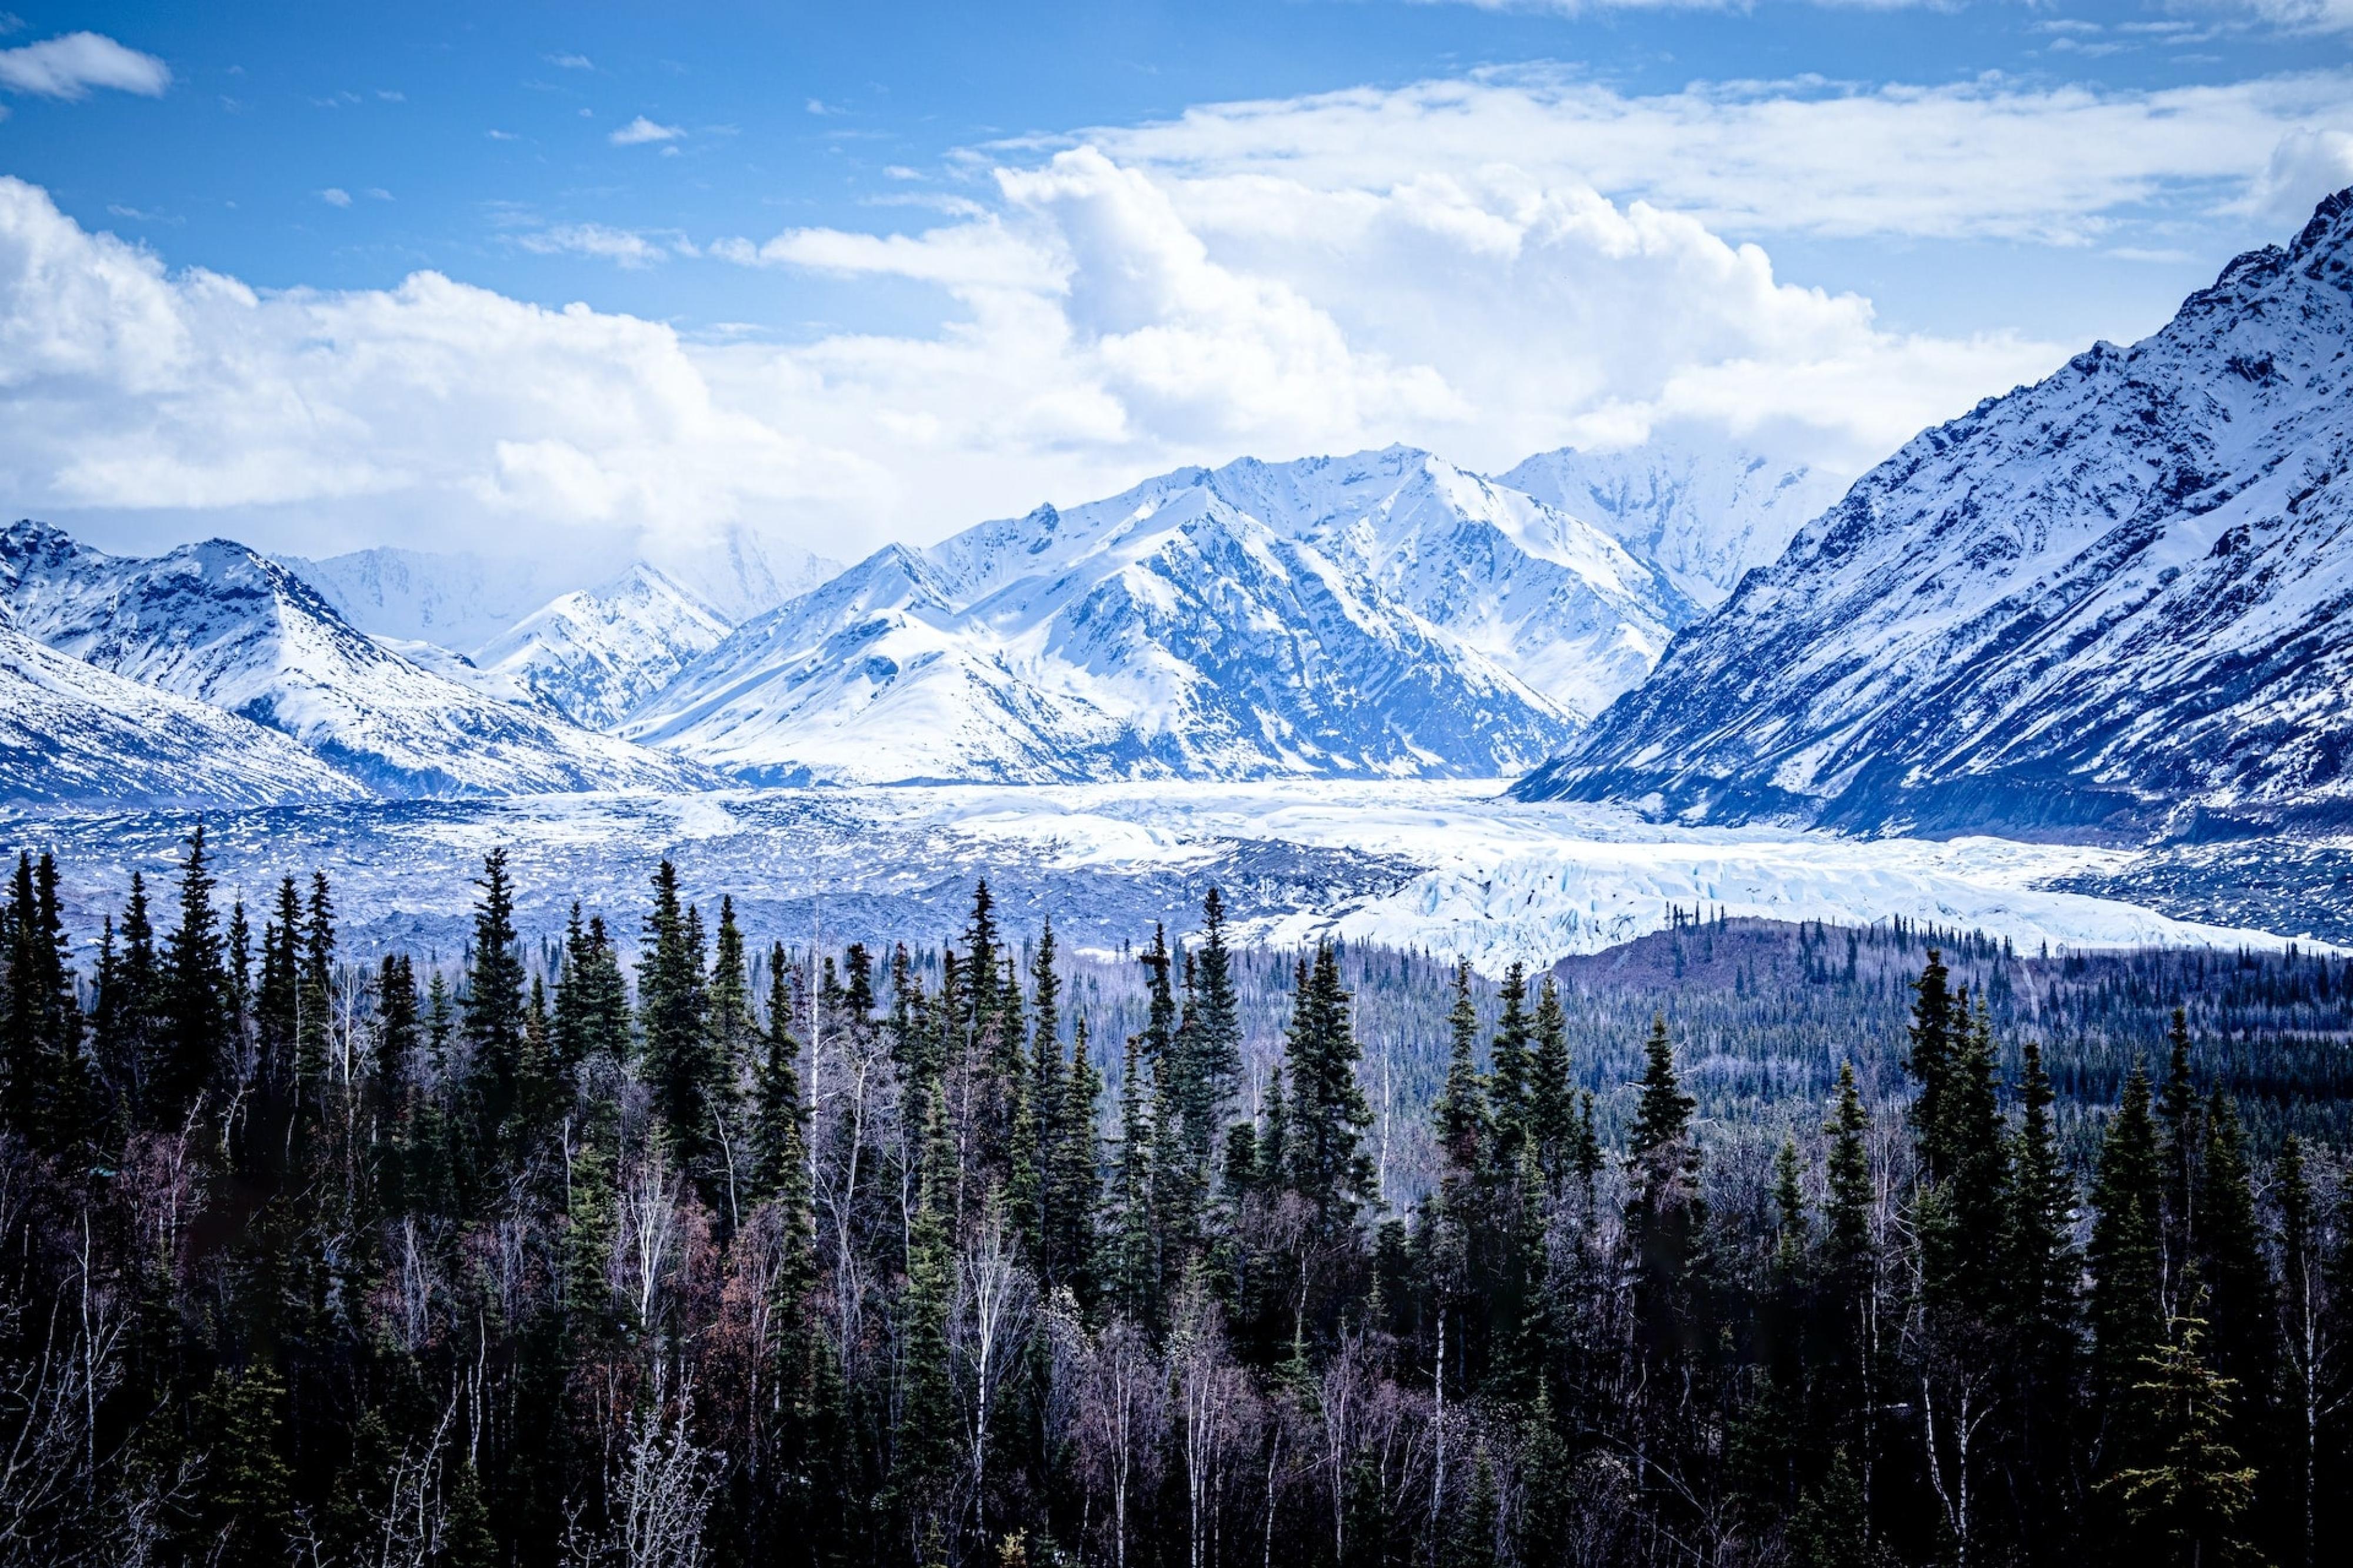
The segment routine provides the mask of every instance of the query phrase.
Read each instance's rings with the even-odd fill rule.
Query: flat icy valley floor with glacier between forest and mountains
[[[454,954],[471,878],[508,845],[525,932],[555,932],[574,897],[633,932],[654,864],[692,897],[732,895],[755,930],[826,944],[948,937],[986,876],[1014,930],[1052,916],[1066,939],[1118,949],[1153,921],[1188,930],[1209,883],[1252,942],[1315,935],[1511,961],[1591,954],[1671,909],[1781,921],[1922,921],[2052,946],[2278,946],[2311,937],[2289,899],[2240,923],[2184,921],[2115,890],[2148,857],[2002,838],[1842,838],[1795,829],[1682,829],[1600,805],[1522,805],[1492,779],[744,789],[275,808],[207,815],[224,890],[259,906],[285,873],[325,869],[358,949]],[[80,878],[75,923],[120,906],[134,869],[176,862],[181,812],[19,817],[0,841],[54,848]],[[2179,897],[2167,906],[2181,909]],[[2325,928],[2320,935],[2334,935]]]

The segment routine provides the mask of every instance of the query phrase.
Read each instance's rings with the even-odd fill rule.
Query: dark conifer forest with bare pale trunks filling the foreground
[[[2353,961],[0,916],[0,1559],[2353,1561]]]

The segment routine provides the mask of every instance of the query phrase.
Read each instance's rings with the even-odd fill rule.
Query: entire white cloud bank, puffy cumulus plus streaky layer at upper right
[[[1897,332],[1784,278],[1767,242],[2120,250],[2151,212],[2207,242],[2282,233],[2353,179],[2346,87],[1628,99],[1485,73],[995,148],[946,172],[965,193],[927,228],[508,240],[936,301],[927,327],[809,341],[431,271],[261,292],[0,181],[0,497],[308,551],[755,525],[845,556],[1245,452],[1407,440],[1501,469],[1673,428],[1852,471],[2080,344]]]

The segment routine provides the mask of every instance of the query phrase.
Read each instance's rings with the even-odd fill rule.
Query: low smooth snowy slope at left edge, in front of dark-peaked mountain
[[[0,607],[0,805],[282,805],[367,791],[256,723],[68,659]]]

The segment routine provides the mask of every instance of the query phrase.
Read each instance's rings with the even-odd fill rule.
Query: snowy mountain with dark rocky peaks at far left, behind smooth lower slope
[[[209,702],[391,796],[694,789],[711,775],[445,680],[228,539],[120,558],[42,523],[0,532],[0,598],[28,636]]]

